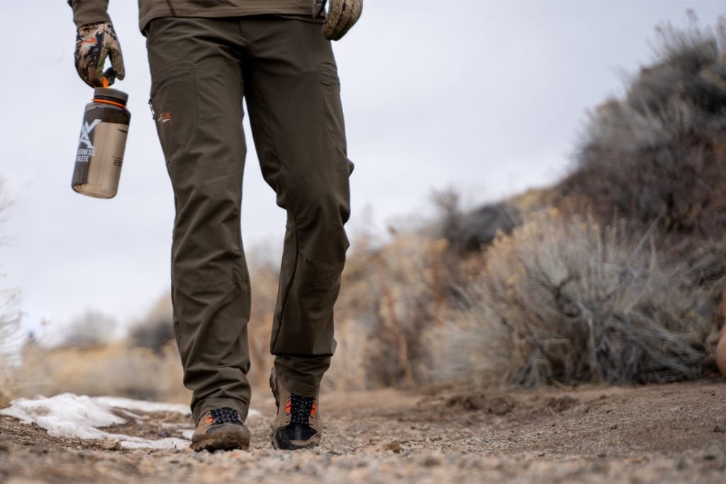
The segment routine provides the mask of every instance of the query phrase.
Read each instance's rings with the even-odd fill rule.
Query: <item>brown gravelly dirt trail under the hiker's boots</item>
[[[462,395],[327,393],[323,445],[248,452],[114,451],[0,417],[0,483],[726,482],[726,382]],[[164,424],[160,420],[164,419]],[[179,423],[184,423],[176,417]],[[167,437],[170,415],[114,431]],[[175,435],[171,435],[175,436]]]

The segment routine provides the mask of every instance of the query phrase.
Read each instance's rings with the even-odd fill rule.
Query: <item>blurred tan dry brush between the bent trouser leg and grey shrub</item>
[[[336,305],[337,388],[411,385],[425,358],[422,335],[439,324],[454,274],[445,240],[401,235],[380,250],[358,247],[348,259]]]

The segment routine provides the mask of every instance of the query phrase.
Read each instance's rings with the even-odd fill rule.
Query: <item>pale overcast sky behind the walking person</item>
[[[0,288],[20,290],[30,328],[62,327],[86,309],[134,321],[168,292],[173,195],[147,106],[144,38],[136,1],[110,4],[126,61],[117,86],[132,113],[113,200],[70,189],[92,94],[73,67],[70,8],[2,7],[0,176],[14,205],[0,229]],[[654,27],[687,25],[688,8],[701,25],[726,10],[717,0],[366,0],[335,44],[356,163],[351,228],[426,216],[431,191],[446,186],[473,205],[555,181],[587,110],[622,93],[621,72],[653,60]],[[285,214],[251,147],[243,238],[277,256]]]

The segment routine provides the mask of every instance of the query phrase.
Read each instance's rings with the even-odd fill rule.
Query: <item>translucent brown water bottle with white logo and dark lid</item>
[[[99,87],[83,113],[78,139],[76,166],[70,185],[78,193],[113,198],[121,178],[123,151],[129,134],[129,95],[117,89]]]

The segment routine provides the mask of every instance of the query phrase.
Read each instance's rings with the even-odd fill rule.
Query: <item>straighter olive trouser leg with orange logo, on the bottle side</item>
[[[164,18],[147,32],[152,106],[174,189],[174,333],[195,422],[250,401],[250,287],[240,237],[245,140],[236,22]]]

